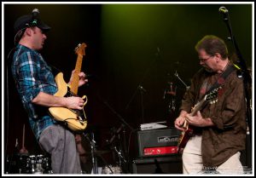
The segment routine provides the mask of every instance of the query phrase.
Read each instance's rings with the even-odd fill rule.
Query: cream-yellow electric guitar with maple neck
[[[69,85],[64,81],[63,73],[60,72],[55,76],[55,82],[58,87],[58,91],[55,96],[75,96],[78,95],[79,89],[79,72],[81,72],[82,60],[85,55],[84,49],[86,44],[82,43],[75,49],[75,53],[78,55],[75,72],[73,73],[72,83]],[[82,97],[84,99],[84,106],[87,103],[87,96]],[[84,112],[84,106],[82,110],[73,110],[66,107],[49,107],[50,114],[57,121],[66,122],[67,127],[73,131],[82,131],[87,126],[87,118]]]

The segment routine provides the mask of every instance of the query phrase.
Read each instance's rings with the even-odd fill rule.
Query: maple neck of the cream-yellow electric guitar
[[[79,90],[79,73],[82,68],[83,55],[78,55],[78,59],[75,66],[75,72],[73,74],[72,82],[70,84],[70,90],[74,95],[78,95]]]

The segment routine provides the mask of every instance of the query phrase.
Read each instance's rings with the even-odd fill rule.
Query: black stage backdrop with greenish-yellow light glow
[[[29,128],[26,112],[15,90],[7,58],[14,47],[13,24],[22,14],[39,9],[45,23],[52,27],[41,51],[44,59],[57,66],[68,81],[75,66],[73,49],[86,43],[82,70],[92,75],[88,86],[79,89],[87,95],[85,111],[88,130],[96,132],[99,147],[121,124],[104,102],[113,107],[127,123],[138,129],[141,123],[175,118],[166,111],[163,100],[167,82],[177,85],[177,106],[185,90],[179,76],[189,80],[199,68],[195,43],[207,34],[224,38],[230,54],[233,46],[218,9],[223,4],[4,4],[4,150],[11,154],[17,138],[21,144],[22,126]],[[252,66],[252,4],[224,4],[241,54]],[[141,94],[141,84],[146,92]],[[144,117],[142,118],[142,96]],[[168,103],[167,103],[168,104]],[[126,135],[130,132],[126,128]],[[32,131],[26,129],[25,146],[39,152]],[[133,151],[133,146],[129,148]]]

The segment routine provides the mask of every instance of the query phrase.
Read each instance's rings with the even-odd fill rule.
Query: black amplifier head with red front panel
[[[177,153],[181,132],[175,128],[137,131],[138,157],[154,157]]]

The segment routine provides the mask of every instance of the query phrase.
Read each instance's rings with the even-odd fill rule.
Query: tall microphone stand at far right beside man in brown
[[[231,23],[230,23],[230,14],[229,11],[226,9],[226,12],[224,13],[224,23],[226,24],[226,26],[228,27],[228,31],[230,32],[230,37],[228,37],[228,39],[232,42],[234,48],[236,49],[236,55],[238,57],[238,60],[236,61],[238,66],[236,66],[236,68],[239,69],[239,73],[238,77],[242,77],[243,78],[243,87],[245,90],[245,98],[246,98],[246,111],[247,111],[247,118],[246,118],[246,122],[247,122],[247,135],[249,135],[250,138],[250,143],[252,143],[252,110],[251,110],[251,103],[250,103],[250,96],[249,96],[249,91],[248,91],[248,85],[250,83],[252,83],[252,78],[250,76],[250,73],[247,69],[247,64],[246,61],[243,59],[241,52],[238,48],[238,45],[236,43],[236,38],[233,35],[232,32],[232,28],[231,28]],[[248,158],[251,158],[250,155],[247,155]],[[252,168],[251,163],[249,163],[249,167]]]

